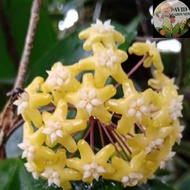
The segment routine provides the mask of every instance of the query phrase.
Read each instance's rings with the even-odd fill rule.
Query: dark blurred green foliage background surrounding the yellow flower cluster
[[[0,0],[0,110],[3,109],[8,97],[6,93],[14,85],[19,60],[22,54],[27,27],[29,24],[32,0]],[[151,0],[43,0],[40,11],[40,21],[37,27],[33,44],[31,60],[29,64],[27,85],[37,76],[46,77],[45,70],[49,70],[53,63],[61,61],[66,65],[73,64],[86,57],[82,49],[82,41],[78,39],[78,33],[95,21],[112,19],[112,24],[126,38],[125,44],[120,49],[127,50],[133,41],[145,41],[152,39],[152,25],[149,8]],[[60,30],[60,21],[66,18],[67,12],[75,9],[78,12],[78,20],[66,30]],[[187,190],[190,185],[190,40],[180,38],[182,49],[179,53],[164,52],[162,59],[165,72],[170,77],[175,77],[180,94],[185,95],[184,117],[182,123],[186,126],[181,145],[176,145],[174,151],[177,155],[168,163],[165,170],[159,170],[156,179],[147,184],[131,190]],[[128,62],[138,61],[139,58],[130,56],[123,63],[127,71],[132,64]],[[149,77],[150,71],[141,68],[133,76],[139,88],[144,88],[143,81]],[[22,141],[22,126],[10,134],[6,143],[7,159],[0,161],[0,190],[34,189],[58,189],[47,187],[47,182],[36,182],[26,172],[23,161],[20,159],[21,151],[17,144]],[[167,184],[166,184],[167,183]],[[114,189],[120,190],[120,183],[100,180],[91,187],[84,183],[73,183],[74,189]]]

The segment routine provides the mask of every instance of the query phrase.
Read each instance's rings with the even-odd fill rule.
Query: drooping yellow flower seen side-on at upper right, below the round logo
[[[160,57],[160,53],[155,46],[155,43],[151,43],[150,41],[144,42],[135,42],[128,49],[129,53],[136,54],[138,56],[143,56],[148,53],[148,57],[144,60],[144,67],[150,67],[153,63],[154,67],[160,71],[163,71],[163,64]]]

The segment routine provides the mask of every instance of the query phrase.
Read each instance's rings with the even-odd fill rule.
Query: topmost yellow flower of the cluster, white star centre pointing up
[[[115,49],[115,42],[123,43],[125,41],[125,38],[114,30],[114,26],[110,25],[110,22],[107,20],[103,24],[100,20],[96,20],[96,24],[92,24],[91,27],[79,33],[80,39],[87,39],[83,45],[86,51],[91,50],[92,45],[96,42],[102,42],[106,47],[111,44]]]

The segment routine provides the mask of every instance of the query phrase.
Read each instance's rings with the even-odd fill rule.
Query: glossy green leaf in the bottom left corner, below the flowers
[[[48,187],[47,181],[35,180],[26,171],[20,158],[9,158],[0,161],[0,189],[1,190],[61,190],[56,186]]]

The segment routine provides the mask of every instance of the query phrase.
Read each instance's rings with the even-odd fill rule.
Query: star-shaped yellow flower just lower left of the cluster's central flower
[[[67,103],[60,100],[54,113],[43,112],[45,123],[42,133],[46,134],[46,144],[54,147],[57,143],[63,145],[69,152],[75,152],[77,147],[72,133],[85,129],[86,122],[82,119],[66,119]]]

